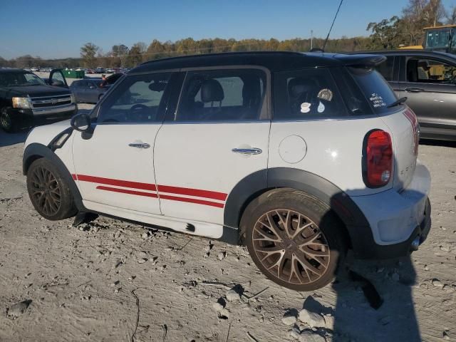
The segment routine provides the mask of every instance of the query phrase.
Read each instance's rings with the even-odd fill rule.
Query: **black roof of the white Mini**
[[[157,59],[142,63],[133,68],[129,74],[149,71],[172,70],[181,68],[202,68],[211,66],[262,66],[270,71],[286,71],[312,68],[316,66],[342,66],[380,63],[383,56],[356,55],[348,56],[336,53],[299,53],[299,52],[237,52],[209,53],[204,55],[181,56]]]

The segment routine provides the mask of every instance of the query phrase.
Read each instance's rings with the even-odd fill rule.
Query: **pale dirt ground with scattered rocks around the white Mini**
[[[25,137],[0,132],[0,341],[456,341],[454,144],[420,145],[432,175],[420,250],[350,261],[380,294],[375,310],[363,281],[283,289],[242,247],[104,217],[78,228],[42,219],[21,172]],[[233,286],[240,299],[227,294]],[[282,318],[303,307],[326,315],[324,326],[298,321],[290,333],[294,318]]]

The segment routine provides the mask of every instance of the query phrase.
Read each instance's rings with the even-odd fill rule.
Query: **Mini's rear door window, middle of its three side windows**
[[[266,118],[266,74],[259,69],[187,73],[175,121]]]

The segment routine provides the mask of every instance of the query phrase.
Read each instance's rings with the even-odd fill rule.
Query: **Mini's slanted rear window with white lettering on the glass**
[[[398,98],[385,78],[374,68],[348,68],[368,103],[377,114],[390,113],[396,108],[388,108]]]

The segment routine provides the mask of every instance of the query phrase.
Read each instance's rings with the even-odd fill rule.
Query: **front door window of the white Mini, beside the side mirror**
[[[128,76],[98,111],[97,123],[157,123],[165,108],[171,73]]]

